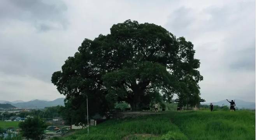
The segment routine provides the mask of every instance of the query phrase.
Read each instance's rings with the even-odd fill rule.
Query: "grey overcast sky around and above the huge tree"
[[[0,0],[0,100],[64,97],[52,73],[84,38],[126,19],[194,44],[207,102],[255,101],[254,0]]]

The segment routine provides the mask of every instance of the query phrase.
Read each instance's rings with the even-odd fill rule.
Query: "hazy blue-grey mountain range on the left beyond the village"
[[[9,103],[17,108],[24,108],[24,109],[33,109],[33,108],[45,108],[45,107],[53,107],[57,105],[64,106],[64,99],[65,98],[58,98],[53,101],[44,101],[44,100],[32,100],[32,101],[0,101],[0,103]]]

